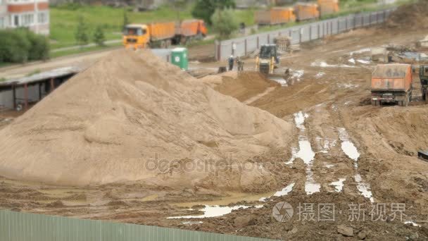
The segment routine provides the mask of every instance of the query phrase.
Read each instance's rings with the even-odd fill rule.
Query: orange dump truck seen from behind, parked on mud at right
[[[412,83],[412,66],[409,64],[378,65],[370,82],[372,105],[398,103],[407,106],[412,98]]]

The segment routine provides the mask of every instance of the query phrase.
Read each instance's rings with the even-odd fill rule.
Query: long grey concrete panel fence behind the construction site
[[[327,35],[336,35],[357,27],[365,27],[383,23],[392,10],[372,13],[351,14],[345,17],[322,20],[316,23],[307,23],[282,30],[263,32],[236,39],[229,39],[215,44],[215,56],[218,60],[225,60],[230,55],[246,56],[259,49],[262,44],[273,44],[275,37],[289,36],[292,44],[320,39]]]

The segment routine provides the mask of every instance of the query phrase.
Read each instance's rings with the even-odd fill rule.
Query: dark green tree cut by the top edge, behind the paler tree
[[[205,23],[212,24],[211,16],[215,12],[215,9],[234,8],[234,0],[197,0],[194,8],[191,11],[191,15],[195,18],[201,18]]]

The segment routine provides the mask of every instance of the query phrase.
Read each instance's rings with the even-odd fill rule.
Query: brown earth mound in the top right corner
[[[386,21],[386,27],[401,27],[407,29],[428,28],[427,1],[419,1],[417,4],[399,6]]]

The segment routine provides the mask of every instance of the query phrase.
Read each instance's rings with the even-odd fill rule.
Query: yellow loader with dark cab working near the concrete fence
[[[257,68],[260,73],[273,73],[275,67],[279,65],[276,44],[264,44],[260,47],[260,54],[256,59]]]

